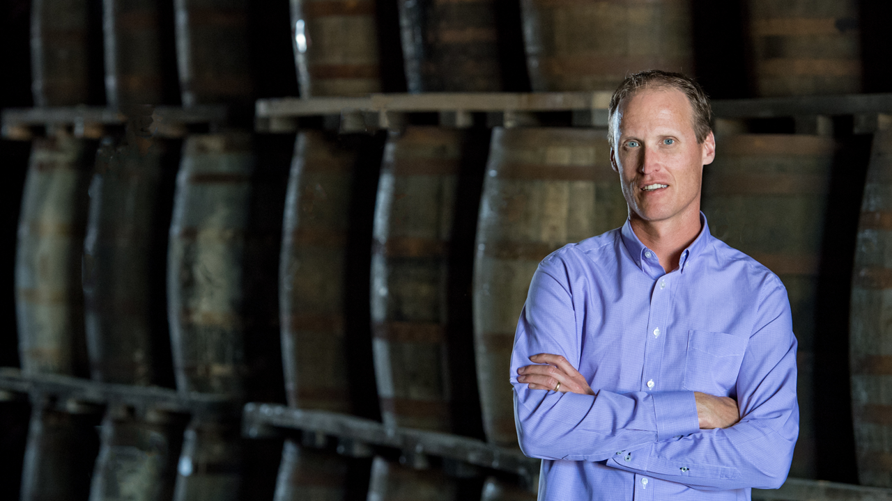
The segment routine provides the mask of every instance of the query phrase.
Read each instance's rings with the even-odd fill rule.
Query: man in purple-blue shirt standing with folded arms
[[[517,324],[517,436],[543,460],[539,499],[776,489],[798,434],[797,341],[778,277],[699,210],[715,154],[706,94],[645,71],[609,114],[629,218],[544,259]]]

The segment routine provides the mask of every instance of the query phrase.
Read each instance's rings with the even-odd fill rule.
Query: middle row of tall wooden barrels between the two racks
[[[360,412],[354,383],[370,379],[370,374],[351,374],[357,355],[351,353],[353,334],[348,326],[356,311],[347,305],[351,293],[355,294],[351,271],[356,268],[351,268],[355,266],[351,262],[362,255],[351,250],[351,242],[356,241],[356,232],[365,231],[369,239],[364,256],[370,263],[365,282],[369,308],[369,352],[365,355],[374,358],[376,411],[385,423],[453,432],[482,415],[487,439],[516,447],[508,358],[530,277],[550,251],[622,224],[625,206],[616,174],[609,168],[603,132],[497,128],[489,148],[484,148],[488,151],[486,164],[478,171],[473,165],[467,167],[473,134],[435,127],[409,127],[404,133],[392,133],[384,146],[381,177],[374,188],[354,182],[361,174],[359,159],[366,157],[361,148],[351,148],[318,132],[301,132],[286,193],[281,193],[284,207],[279,208],[279,214],[285,213],[278,226],[281,247],[270,241],[268,234],[254,231],[261,217],[252,214],[269,212],[252,208],[260,209],[261,201],[276,196],[252,197],[250,193],[262,185],[275,185],[281,178],[252,176],[257,164],[250,136],[194,136],[187,140],[170,218],[167,266],[170,339],[178,389],[256,396],[249,388],[250,378],[246,378],[257,368],[246,362],[250,357],[245,355],[257,336],[246,341],[250,322],[244,316],[245,296],[262,295],[263,288],[275,289],[269,283],[276,272],[266,275],[265,283],[262,277],[252,282],[245,278],[244,259],[260,256],[252,251],[272,247],[281,251],[278,318],[273,321],[273,332],[279,333],[281,328],[289,404]],[[814,475],[818,438],[812,424],[814,407],[808,402],[814,387],[810,354],[814,349],[815,282],[821,270],[822,231],[837,146],[817,136],[726,136],[720,137],[719,143],[720,156],[706,169],[704,211],[716,236],[759,259],[788,287],[794,329],[802,348],[799,394],[804,402],[793,474]],[[858,262],[864,264],[856,269],[851,344],[852,365],[863,370],[863,375],[859,372],[853,377],[853,398],[862,472],[870,479],[864,481],[884,485],[887,480],[881,472],[887,470],[870,471],[871,465],[884,464],[888,456],[888,445],[878,445],[888,434],[882,428],[888,425],[883,420],[889,405],[888,382],[883,380],[888,376],[888,364],[882,359],[887,355],[877,349],[888,335],[881,330],[882,324],[870,320],[882,318],[881,310],[871,313],[869,308],[882,308],[880,298],[886,287],[882,234],[878,232],[886,229],[882,203],[888,197],[883,192],[881,169],[888,138],[877,136],[875,143],[857,247]],[[117,167],[95,174],[87,218],[89,176],[82,168],[78,170],[78,165],[88,149],[86,142],[61,137],[38,141],[32,154],[16,279],[23,368],[26,372],[78,375],[77,359],[84,358],[78,353],[88,351],[78,346],[86,344],[96,379],[145,384],[152,381],[145,378],[153,373],[153,364],[146,363],[145,350],[144,358],[134,356],[140,353],[139,347],[151,344],[138,341],[138,334],[151,329],[145,329],[145,306],[136,308],[138,298],[128,299],[130,292],[121,276],[127,277],[131,290],[138,291],[139,282],[149,275],[140,261],[145,251],[139,251],[145,248],[141,240],[145,235],[140,236],[137,230],[151,226],[145,221],[152,210],[133,208],[137,201],[155,197],[128,190],[126,183],[112,190],[114,196],[102,193],[103,183],[111,183],[115,177],[120,177],[118,183],[126,180],[133,185],[153,185],[154,181],[147,174],[151,169],[128,172],[127,162],[117,160]],[[120,157],[128,158],[123,152]],[[156,161],[148,151],[134,158]],[[473,190],[467,191],[467,186],[475,184],[482,185],[479,199],[468,196]],[[354,217],[361,205],[358,193],[375,190],[374,220],[365,230],[351,228],[359,220]],[[130,201],[116,201],[115,197],[126,199],[124,193],[131,193]],[[462,238],[467,242],[467,234],[461,232],[468,228],[455,223],[458,211],[476,206],[478,200],[479,218],[472,228],[475,242],[469,250],[474,254],[471,274],[468,261],[463,268],[457,255],[461,249],[467,252],[467,247],[455,244]],[[102,237],[101,225],[89,231],[84,228],[87,219],[92,225],[103,221],[95,214],[102,212],[100,207],[121,217],[121,227],[109,233],[113,238]],[[752,223],[755,220],[758,226]],[[82,242],[86,242],[83,273],[87,278],[81,280],[75,272],[81,269]],[[136,250],[136,257],[125,253],[115,258],[115,244],[122,250]],[[94,263],[88,265],[90,259]],[[124,264],[115,265],[116,259]],[[104,275],[96,271],[99,264],[109,266],[109,271]],[[114,266],[117,271],[111,269]],[[468,294],[470,287],[459,288],[456,294],[460,276],[472,275],[473,294]],[[96,277],[95,282],[89,277]],[[86,323],[78,322],[80,283],[85,297],[94,298],[87,301],[87,316],[93,320]],[[256,294],[246,293],[251,283],[260,283],[252,290]],[[474,340],[468,341],[473,343],[472,349],[457,351],[463,331],[456,328],[461,319],[455,312],[460,310],[462,294],[467,300],[473,296]],[[871,299],[874,297],[878,299]],[[119,299],[123,301],[120,308],[107,308]],[[95,308],[90,309],[94,303]],[[142,323],[134,320],[140,316]],[[141,331],[133,325],[144,327]],[[125,326],[127,332],[110,334],[101,341],[103,329],[115,326]],[[94,341],[82,343],[78,336]],[[865,346],[870,346],[870,351]],[[462,366],[463,359],[467,369],[472,353],[475,365],[470,372],[476,374],[476,384],[471,386],[480,395],[479,414],[468,413],[467,407],[456,412],[459,402],[467,404],[467,398],[462,400],[465,396],[455,390],[468,389],[468,371],[453,369]],[[128,369],[128,374],[106,375],[116,374],[121,367]]]

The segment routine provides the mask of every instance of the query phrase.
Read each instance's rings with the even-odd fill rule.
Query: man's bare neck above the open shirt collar
[[[660,266],[666,273],[678,267],[681,252],[697,240],[703,229],[699,208],[683,217],[665,221],[646,221],[635,214],[630,219],[635,236],[645,247],[657,253]]]

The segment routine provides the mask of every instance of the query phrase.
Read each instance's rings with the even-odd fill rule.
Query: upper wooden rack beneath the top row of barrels
[[[255,106],[258,132],[293,132],[298,120],[322,117],[345,133],[399,128],[409,115],[435,113],[443,127],[470,127],[473,115],[486,115],[488,126],[519,127],[539,123],[542,113],[569,112],[576,127],[607,127],[608,92],[371,94],[368,97],[282,97],[261,99]],[[735,127],[740,119],[796,119],[797,132],[828,133],[832,116],[852,116],[853,132],[872,133],[886,127],[892,94],[808,95],[713,101],[716,129]],[[158,136],[180,137],[190,126],[211,130],[227,124],[223,106],[177,108],[158,106],[152,129]],[[75,136],[102,136],[105,127],[120,126],[126,117],[103,108],[21,108],[3,112],[3,136],[29,140],[39,127],[66,127]]]

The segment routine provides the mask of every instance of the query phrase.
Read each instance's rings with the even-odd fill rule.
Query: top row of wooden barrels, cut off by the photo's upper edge
[[[285,0],[281,0],[285,2]],[[532,90],[613,90],[639,70],[696,73],[690,0],[523,0],[522,27],[509,26],[495,0],[397,2],[409,92],[516,90],[503,68],[506,53],[526,55]],[[747,0],[755,92],[761,96],[861,91],[862,63],[855,0]],[[180,99],[250,103],[245,0],[175,0]],[[362,95],[383,89],[379,55],[384,15],[375,0],[290,0],[297,83],[304,97]],[[55,12],[65,12],[56,15]],[[161,103],[165,78],[157,2],[103,2],[105,94],[111,106]],[[506,19],[503,19],[506,18]],[[90,100],[91,19],[88,0],[39,0],[32,6],[35,103]],[[282,24],[284,27],[284,23]],[[511,34],[523,32],[514,40]],[[283,37],[284,39],[284,37]],[[515,44],[516,46],[512,46]]]

